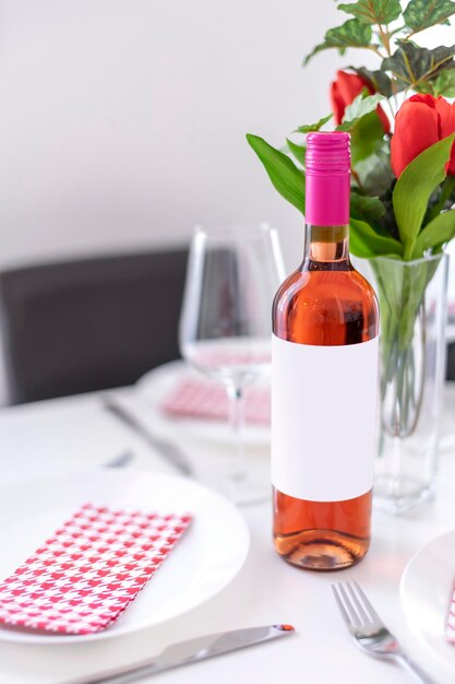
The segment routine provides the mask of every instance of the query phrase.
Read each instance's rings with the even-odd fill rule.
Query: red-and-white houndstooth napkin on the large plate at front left
[[[191,516],[85,504],[0,582],[0,623],[62,634],[108,627],[158,569]]]

